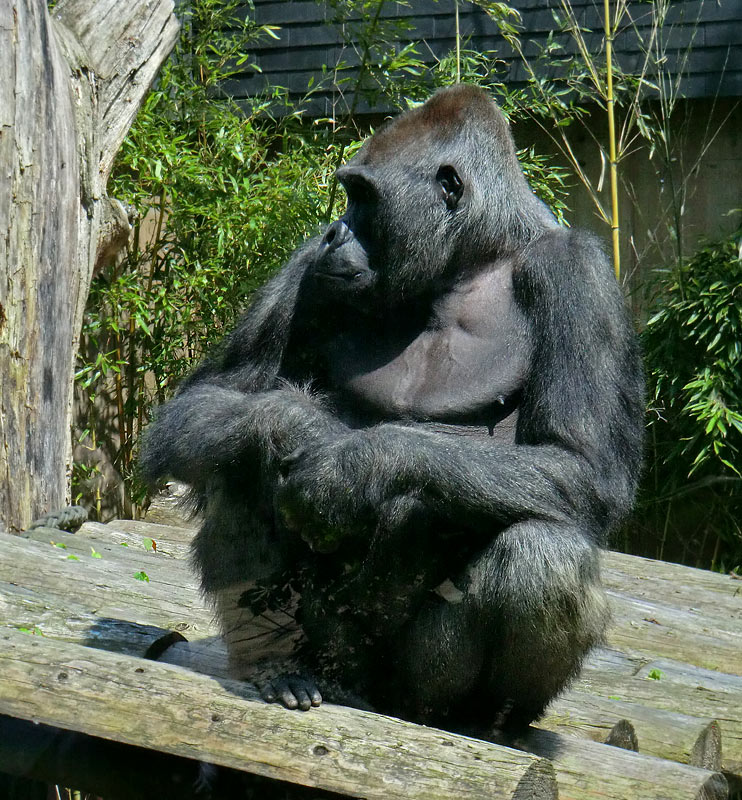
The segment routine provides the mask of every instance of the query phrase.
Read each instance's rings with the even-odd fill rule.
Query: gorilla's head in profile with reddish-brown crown
[[[458,85],[387,123],[337,172],[345,215],[325,232],[315,275],[334,294],[385,304],[523,247],[554,225],[518,164],[507,121]]]

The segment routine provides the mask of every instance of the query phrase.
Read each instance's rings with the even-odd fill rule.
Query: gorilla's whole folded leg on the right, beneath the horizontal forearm
[[[585,533],[528,521],[503,531],[403,645],[412,714],[517,731],[577,674],[605,629],[598,550]],[[499,716],[498,716],[499,715]]]

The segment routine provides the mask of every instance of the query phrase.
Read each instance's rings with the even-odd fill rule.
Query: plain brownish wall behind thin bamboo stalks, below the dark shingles
[[[593,111],[589,127],[600,141],[606,140],[600,109]],[[518,147],[535,143],[542,152],[557,152],[533,124],[515,125],[513,133]],[[731,99],[680,101],[669,133],[671,169],[659,153],[650,157],[641,142],[620,164],[622,270],[639,316],[651,293],[654,269],[673,264],[678,253],[691,255],[702,238],[718,238],[742,225],[742,104]],[[580,125],[571,126],[568,134],[581,166],[597,184],[602,162],[594,140]],[[609,208],[607,165],[603,184],[601,201]],[[576,179],[568,204],[570,223],[590,228],[608,244],[608,227]]]

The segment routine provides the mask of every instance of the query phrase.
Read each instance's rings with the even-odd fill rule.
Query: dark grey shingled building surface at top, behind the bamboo
[[[529,58],[535,56],[548,36],[564,43],[566,53],[575,46],[567,34],[555,30],[554,11],[559,0],[515,0],[512,5],[521,14],[523,41]],[[612,4],[615,5],[615,4]],[[572,0],[582,26],[593,31],[586,34],[593,52],[602,47],[602,3],[594,0]],[[455,48],[454,0],[410,0],[403,4],[387,2],[382,19],[398,19],[409,24],[405,41],[419,42],[418,51],[432,64]],[[643,55],[638,45],[635,26],[643,38],[651,28],[652,4],[630,0],[630,15],[624,18],[615,43],[617,58],[627,71],[641,67]],[[468,0],[459,0],[461,36],[466,46],[478,51],[496,51],[509,61],[503,77],[509,82],[525,79],[523,65],[512,59],[509,45],[496,30],[487,14]],[[298,99],[307,90],[310,79],[315,84],[323,79],[322,65],[330,67],[344,61],[349,71],[349,85],[356,74],[358,53],[352,46],[357,22],[340,25],[330,3],[318,0],[255,0],[254,18],[259,23],[278,25],[277,39],[266,38],[254,55],[262,75],[246,72],[230,84],[235,96],[248,96],[266,83],[286,87]],[[742,96],[742,0],[670,0],[663,29],[667,67],[670,72],[684,74],[682,91],[686,97]],[[690,50],[689,50],[690,47]],[[511,60],[512,59],[512,60]],[[352,102],[347,89],[345,102]],[[336,109],[338,93],[332,87],[319,92],[314,106],[317,114]],[[386,111],[383,99],[369,108],[357,104],[362,111]]]

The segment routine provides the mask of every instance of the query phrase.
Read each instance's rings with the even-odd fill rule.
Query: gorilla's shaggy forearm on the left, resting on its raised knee
[[[245,394],[210,383],[177,395],[150,426],[142,448],[145,479],[193,485],[249,462],[275,471],[298,447],[345,430],[319,401],[293,388]]]

